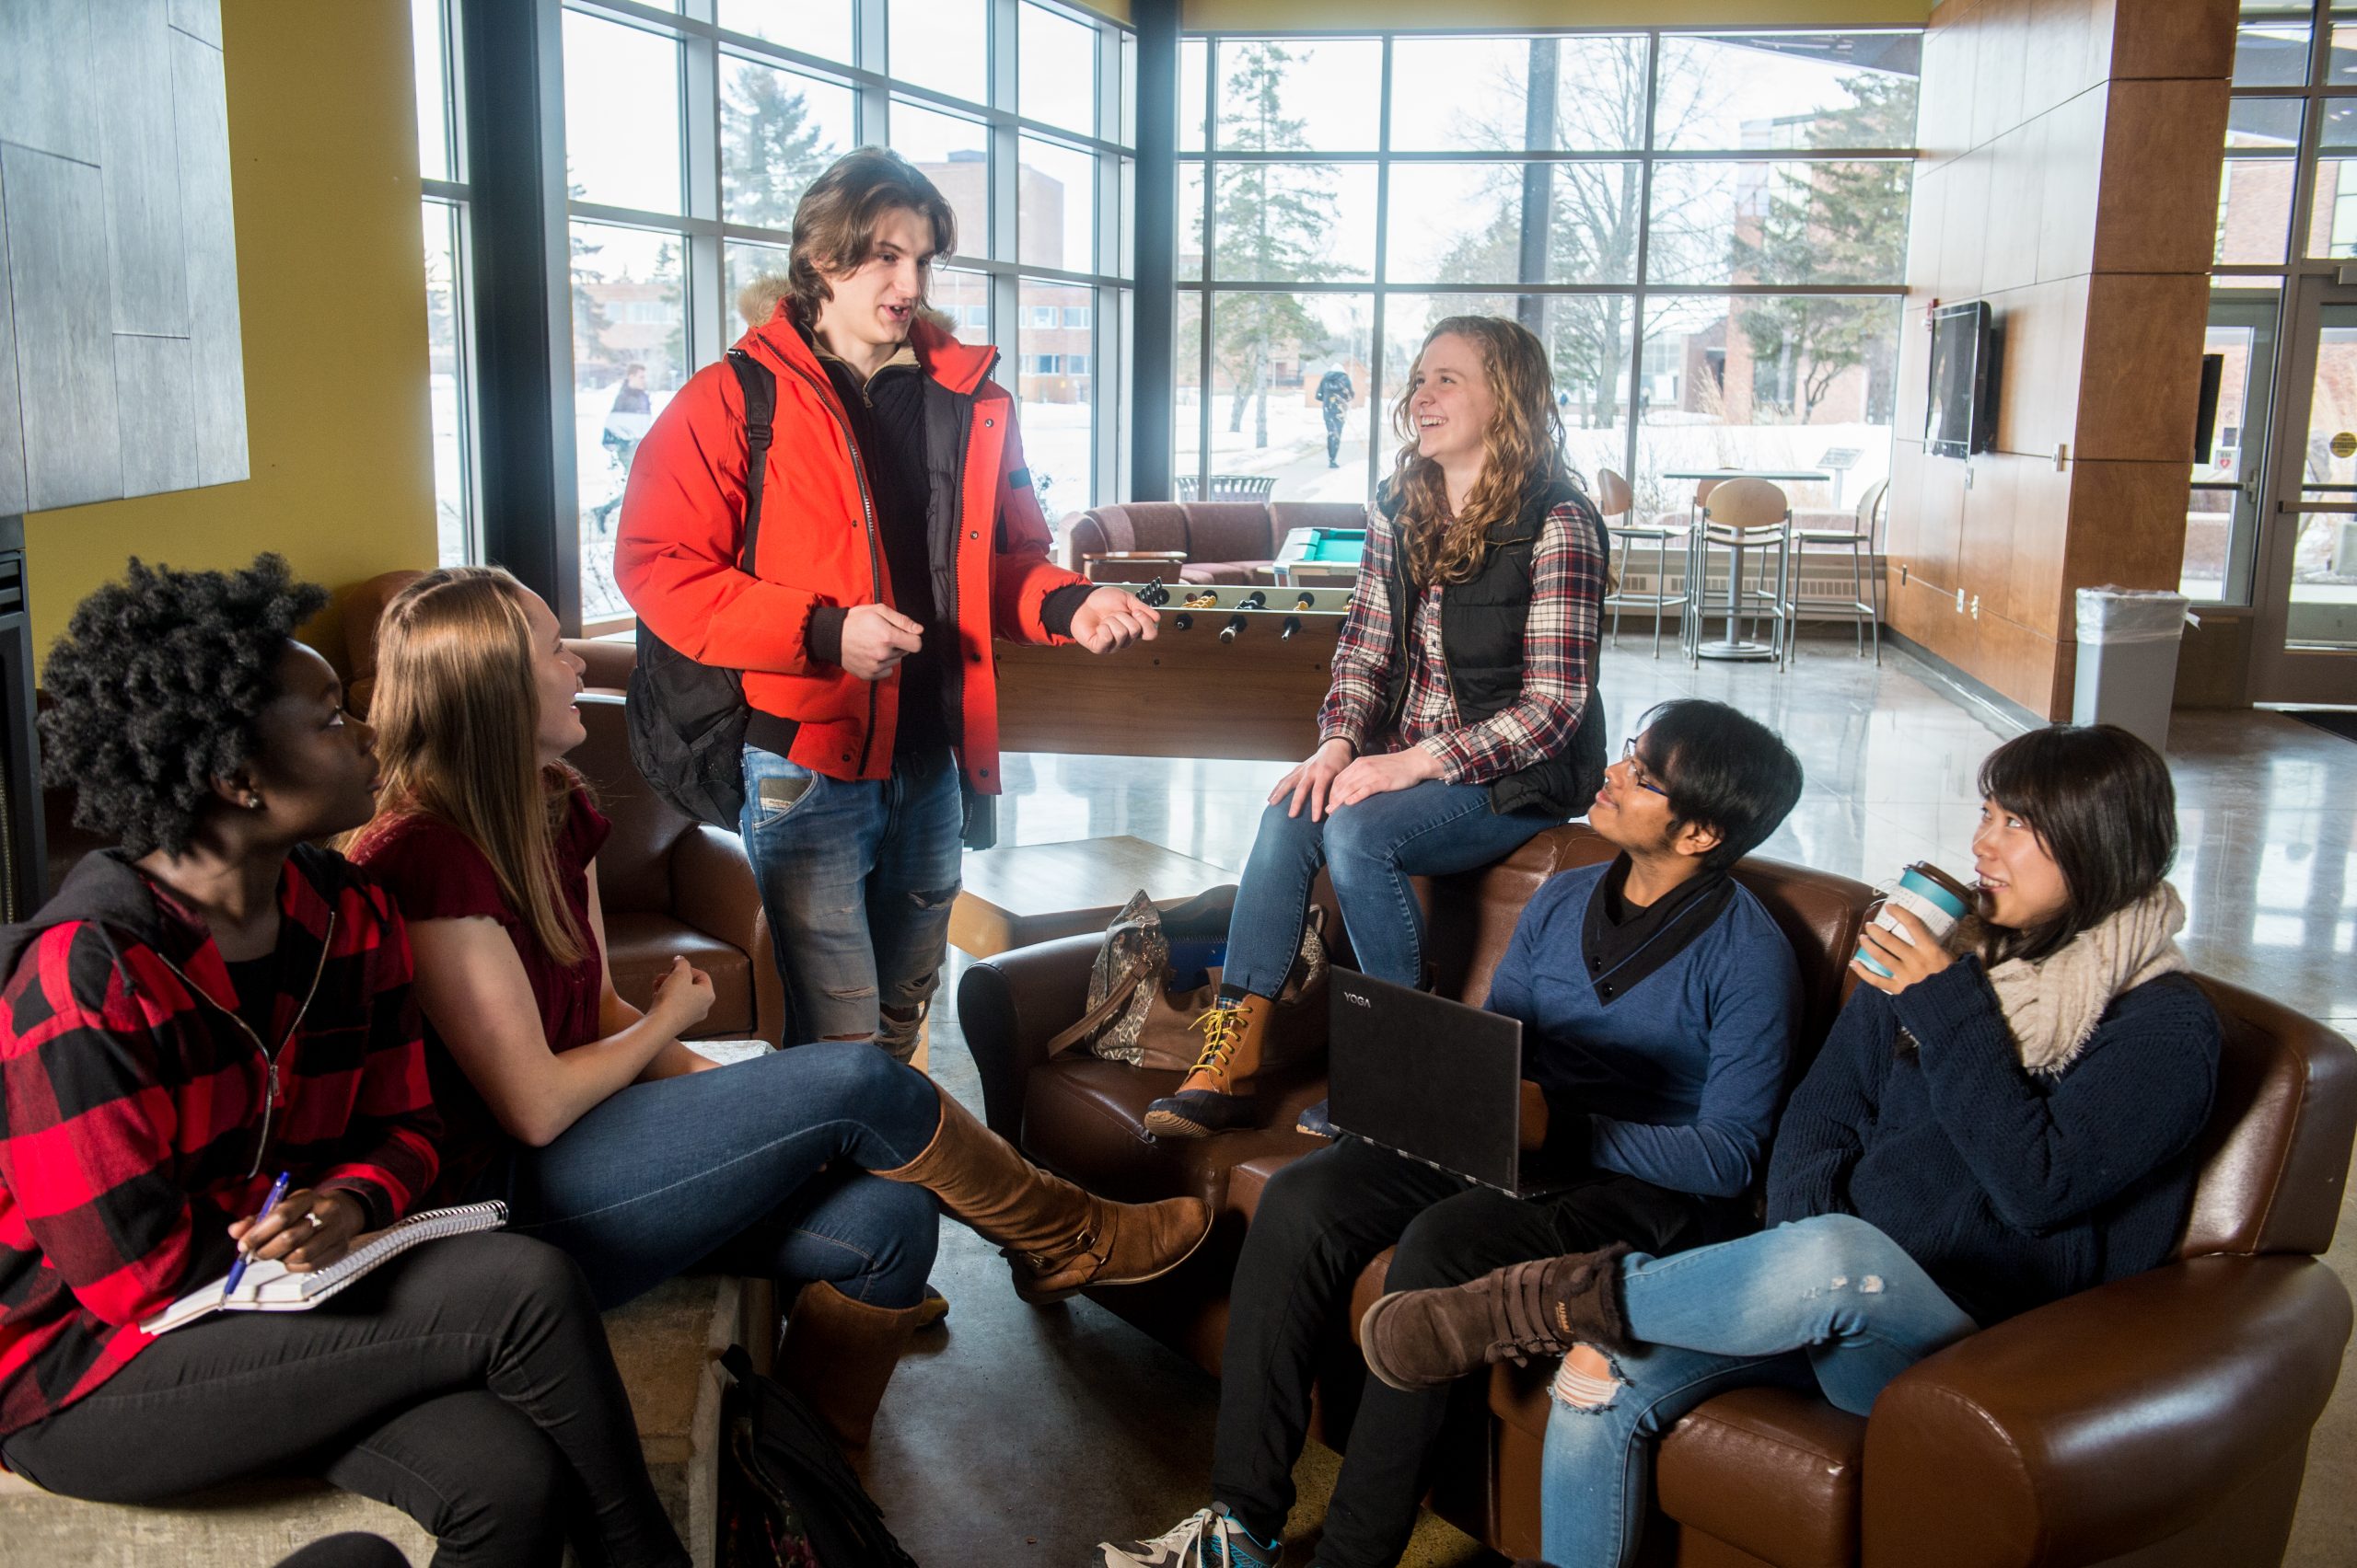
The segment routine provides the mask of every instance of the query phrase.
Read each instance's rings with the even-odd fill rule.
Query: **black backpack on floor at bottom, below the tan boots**
[[[721,1568],[917,1568],[827,1424],[752,1370],[742,1344],[721,1368]]]

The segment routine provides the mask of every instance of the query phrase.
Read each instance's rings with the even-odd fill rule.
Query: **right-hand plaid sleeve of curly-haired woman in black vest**
[[[1372,539],[1372,534],[1369,534]],[[1490,718],[1419,742],[1450,784],[1487,784],[1572,744],[1596,683],[1598,603],[1605,556],[1572,501],[1546,513],[1530,556],[1530,622],[1523,626],[1523,695]],[[1341,659],[1336,657],[1336,666]]]

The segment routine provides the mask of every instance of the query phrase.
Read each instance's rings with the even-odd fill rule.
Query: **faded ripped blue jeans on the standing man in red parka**
[[[745,746],[738,831],[785,979],[787,1043],[872,1038],[900,1062],[917,1055],[964,824],[948,749],[846,782]]]

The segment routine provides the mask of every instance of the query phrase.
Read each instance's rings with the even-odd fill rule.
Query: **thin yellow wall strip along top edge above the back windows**
[[[2161,0],[2150,0],[2161,2]],[[1412,0],[1181,0],[1190,33],[1447,28],[1681,28],[1808,21],[1923,26],[1930,0],[1464,0],[1447,14]]]

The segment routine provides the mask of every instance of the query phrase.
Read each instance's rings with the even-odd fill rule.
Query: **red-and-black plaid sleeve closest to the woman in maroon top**
[[[368,918],[354,921],[354,958],[370,977],[368,1055],[351,1102],[344,1144],[351,1154],[330,1165],[318,1187],[339,1187],[370,1208],[375,1224],[391,1224],[434,1184],[441,1170],[441,1116],[427,1078],[424,1029],[410,991],[410,932],[382,888],[346,899]]]

